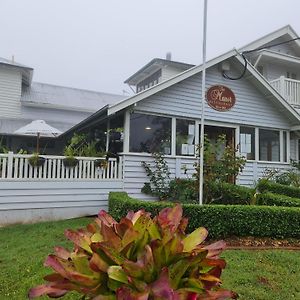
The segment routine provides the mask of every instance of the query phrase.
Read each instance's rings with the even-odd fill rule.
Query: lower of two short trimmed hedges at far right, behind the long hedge
[[[263,193],[256,196],[257,205],[300,207],[300,199],[273,193]]]

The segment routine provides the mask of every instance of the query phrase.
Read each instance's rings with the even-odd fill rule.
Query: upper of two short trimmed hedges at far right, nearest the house
[[[300,198],[300,188],[274,183],[266,179],[261,179],[258,182],[257,189],[261,193],[271,192],[274,194],[286,195],[293,198]]]

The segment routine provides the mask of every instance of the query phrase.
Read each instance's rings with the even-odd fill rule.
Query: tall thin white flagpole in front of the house
[[[206,77],[206,27],[207,27],[207,0],[204,0],[203,12],[203,44],[202,44],[202,108],[200,129],[200,163],[199,163],[199,204],[203,204],[203,154],[204,154],[204,118],[205,118],[205,77]]]

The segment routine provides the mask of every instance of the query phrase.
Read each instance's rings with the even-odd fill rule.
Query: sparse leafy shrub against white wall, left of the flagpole
[[[162,153],[153,153],[154,165],[142,161],[150,183],[145,183],[142,192],[165,200],[169,194],[170,170]]]

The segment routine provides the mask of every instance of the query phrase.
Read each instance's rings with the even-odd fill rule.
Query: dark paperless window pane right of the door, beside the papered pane
[[[259,130],[259,159],[280,161],[279,131]]]

